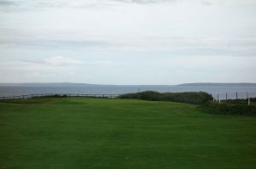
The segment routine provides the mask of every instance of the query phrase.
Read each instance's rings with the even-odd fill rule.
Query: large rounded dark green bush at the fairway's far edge
[[[212,100],[212,96],[204,92],[187,93],[158,93],[146,91],[141,93],[126,93],[119,96],[119,99],[143,99],[150,101],[172,101],[189,104],[203,104]]]

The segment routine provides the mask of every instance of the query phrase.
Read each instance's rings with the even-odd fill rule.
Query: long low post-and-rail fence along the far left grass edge
[[[30,99],[36,97],[50,97],[50,96],[66,96],[66,97],[91,97],[91,98],[109,98],[114,99],[119,97],[119,94],[76,94],[76,93],[43,93],[43,94],[26,94],[26,95],[18,95],[18,96],[1,96],[0,99]]]

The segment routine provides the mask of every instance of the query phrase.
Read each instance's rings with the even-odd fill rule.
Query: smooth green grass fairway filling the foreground
[[[129,99],[0,103],[0,168],[256,168],[256,117]]]

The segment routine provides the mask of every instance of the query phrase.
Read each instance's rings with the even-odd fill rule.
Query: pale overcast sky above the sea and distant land
[[[256,82],[256,0],[0,0],[0,82]]]

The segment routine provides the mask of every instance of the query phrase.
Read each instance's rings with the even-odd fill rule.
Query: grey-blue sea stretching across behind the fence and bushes
[[[97,85],[86,83],[0,83],[0,97],[26,94],[123,94],[206,92],[215,99],[256,98],[256,83],[186,83],[180,85]]]

